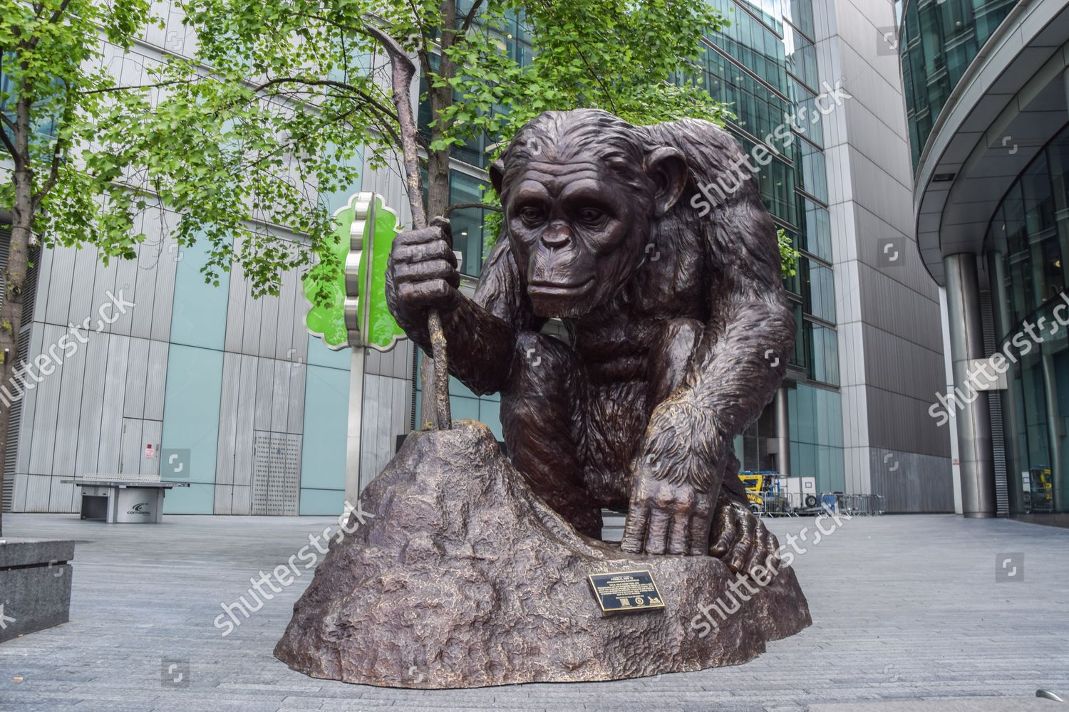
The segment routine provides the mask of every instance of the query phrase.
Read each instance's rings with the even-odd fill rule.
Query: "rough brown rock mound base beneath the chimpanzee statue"
[[[331,541],[275,648],[311,677],[417,689],[635,678],[743,663],[811,622],[789,568],[756,595],[740,587],[742,602],[716,558],[632,556],[577,534],[481,423],[409,436],[360,505],[370,516]],[[604,616],[587,575],[636,569],[665,610]],[[740,607],[712,611],[712,627],[701,610],[714,602]]]

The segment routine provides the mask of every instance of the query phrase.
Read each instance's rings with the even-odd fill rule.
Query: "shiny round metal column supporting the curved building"
[[[976,255],[965,252],[943,258],[958,422],[958,460],[961,470],[961,509],[966,518],[995,516],[995,466],[991,449],[991,411],[988,396],[969,382],[972,359],[983,358],[980,289]],[[972,399],[972,402],[967,402]]]

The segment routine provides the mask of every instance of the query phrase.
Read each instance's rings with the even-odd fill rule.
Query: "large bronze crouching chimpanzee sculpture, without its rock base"
[[[794,337],[744,161],[708,122],[546,112],[491,167],[505,228],[475,298],[458,289],[440,219],[398,236],[386,280],[424,349],[439,310],[450,371],[501,393],[513,464],[576,529],[600,537],[602,507],[628,505],[624,551],[712,554],[735,571],[778,549],[749,511],[732,441],[772,399]],[[737,189],[704,202],[728,174]],[[541,333],[552,317],[571,344]]]

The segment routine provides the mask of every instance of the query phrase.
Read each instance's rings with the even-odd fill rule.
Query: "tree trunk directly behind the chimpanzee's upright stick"
[[[438,64],[438,74],[450,79],[456,76],[456,63],[446,56],[446,50],[456,42],[456,3],[453,0],[446,0],[441,3],[441,54]],[[453,104],[453,90],[450,86],[431,88],[428,90],[431,100],[431,115],[438,113]],[[431,142],[441,138],[441,127],[438,125],[431,127]],[[439,218],[446,215],[449,207],[449,158],[450,151],[430,151],[427,156],[427,217],[428,219]],[[420,408],[420,428],[425,428],[428,423],[435,422],[434,399],[428,398],[427,394],[433,393],[434,383],[434,362],[424,358],[423,366],[420,368],[420,387],[423,392],[422,405]]]

